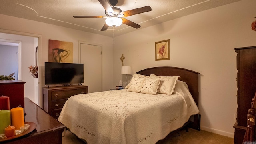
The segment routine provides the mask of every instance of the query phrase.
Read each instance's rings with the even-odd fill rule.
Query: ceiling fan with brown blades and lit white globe
[[[101,29],[101,31],[104,31],[104,30],[107,30],[109,26],[116,27],[116,26],[120,26],[122,23],[128,26],[131,26],[133,28],[140,28],[140,25],[130,20],[127,20],[124,17],[151,11],[150,6],[144,6],[141,8],[135,8],[135,9],[127,10],[123,12],[120,8],[115,7],[116,4],[118,3],[118,0],[109,0],[112,6],[108,4],[107,0],[98,0],[98,1],[105,9],[106,16],[73,16],[73,17],[74,18],[106,18],[105,20],[106,23]]]

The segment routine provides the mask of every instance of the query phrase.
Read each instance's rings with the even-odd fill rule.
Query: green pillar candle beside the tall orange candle
[[[4,128],[11,125],[11,111],[0,110],[0,134],[4,134]]]

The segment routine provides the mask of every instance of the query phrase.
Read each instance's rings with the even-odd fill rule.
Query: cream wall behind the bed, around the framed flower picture
[[[234,137],[236,113],[236,52],[234,48],[256,46],[251,23],[256,1],[242,0],[116,36],[114,86],[120,74],[121,54],[132,72],[176,66],[200,72],[199,110],[201,129]],[[155,61],[155,42],[170,39],[170,60]],[[131,78],[131,76],[129,77]]]

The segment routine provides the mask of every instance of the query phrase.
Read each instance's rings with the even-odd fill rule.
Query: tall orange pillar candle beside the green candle
[[[18,130],[21,126],[24,126],[24,111],[23,108],[17,107],[11,109],[11,121],[12,126],[15,126]]]

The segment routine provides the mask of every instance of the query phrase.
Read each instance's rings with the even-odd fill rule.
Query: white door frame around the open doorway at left
[[[31,37],[36,37],[38,38],[38,96],[39,96],[39,106],[42,108],[42,35],[39,34],[31,34],[31,33],[26,33],[26,32],[18,32],[18,31],[13,31],[13,30],[4,30],[0,29],[1,33],[6,33],[6,34],[15,34],[15,35],[22,35],[22,36],[31,36]],[[20,57],[21,58],[21,57]],[[22,80],[22,79],[21,79]]]

